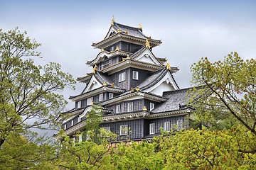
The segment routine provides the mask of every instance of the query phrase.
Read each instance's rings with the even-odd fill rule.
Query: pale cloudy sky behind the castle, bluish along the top
[[[0,0],[0,28],[26,30],[42,43],[36,62],[58,62],[75,79],[92,71],[85,63],[100,52],[92,42],[105,38],[112,16],[128,26],[141,23],[145,35],[162,40],[153,52],[180,69],[174,77],[181,88],[191,86],[191,64],[201,57],[214,62],[232,51],[256,57],[256,1]],[[64,95],[81,91],[78,85]]]

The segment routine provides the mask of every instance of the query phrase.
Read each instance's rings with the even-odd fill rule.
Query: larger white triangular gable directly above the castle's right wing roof
[[[173,91],[177,89],[178,89],[178,86],[176,85],[174,78],[171,76],[171,73],[166,72],[166,74],[160,81],[158,81],[156,84],[149,87],[148,89],[144,89],[144,91],[150,92],[152,94],[156,94],[159,96],[163,96],[164,91]]]

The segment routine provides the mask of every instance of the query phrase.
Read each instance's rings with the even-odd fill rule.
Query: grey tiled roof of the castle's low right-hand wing
[[[178,111],[183,108],[186,108],[186,100],[187,100],[187,91],[191,89],[179,89],[175,91],[165,91],[164,97],[169,98],[164,103],[159,104],[152,113],[161,113],[167,111]]]

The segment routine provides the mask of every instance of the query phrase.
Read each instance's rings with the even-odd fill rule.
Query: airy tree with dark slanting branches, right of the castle
[[[191,72],[192,83],[199,86],[190,94],[198,120],[212,128],[241,123],[256,135],[256,60],[231,52],[223,62],[202,58]]]

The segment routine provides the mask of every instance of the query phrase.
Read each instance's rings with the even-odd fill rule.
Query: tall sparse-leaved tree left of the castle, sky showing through
[[[34,64],[41,44],[26,34],[18,28],[6,33],[0,29],[0,147],[14,132],[53,128],[67,103],[58,92],[74,88],[73,77],[60,64]]]

